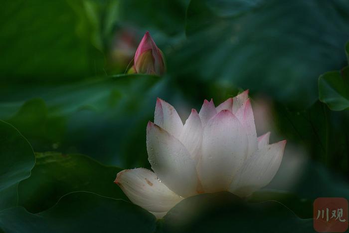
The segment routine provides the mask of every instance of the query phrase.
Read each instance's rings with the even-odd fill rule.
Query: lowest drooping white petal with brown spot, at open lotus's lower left
[[[118,173],[115,183],[136,205],[158,213],[168,212],[182,198],[157,179],[157,175],[144,168],[124,170]],[[160,216],[159,216],[160,217]]]

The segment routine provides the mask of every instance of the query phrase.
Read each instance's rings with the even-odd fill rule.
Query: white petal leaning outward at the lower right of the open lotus
[[[229,192],[246,197],[266,186],[279,170],[286,140],[257,150],[234,177]]]

